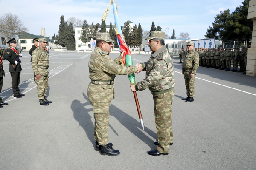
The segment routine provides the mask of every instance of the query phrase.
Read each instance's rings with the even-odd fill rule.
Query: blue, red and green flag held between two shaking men
[[[128,66],[128,65],[132,65],[133,66],[133,62],[132,62],[132,58],[131,58],[131,51],[129,50],[128,46],[125,43],[125,40],[123,39],[123,34],[122,34],[122,29],[121,29],[121,25],[119,22],[119,17],[117,15],[117,11],[116,11],[116,4],[115,2],[112,3],[113,5],[113,11],[114,11],[114,17],[115,17],[115,27],[116,27],[116,35],[117,35],[117,43],[119,45],[119,51],[120,52],[124,52],[124,55],[122,57],[122,61],[124,63],[124,65]],[[131,75],[128,75],[131,84],[136,84],[135,82],[135,75],[134,73]]]

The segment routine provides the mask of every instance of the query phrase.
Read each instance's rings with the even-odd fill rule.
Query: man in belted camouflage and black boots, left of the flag
[[[88,64],[92,81],[88,85],[87,95],[93,105],[95,150],[102,155],[117,156],[119,150],[114,150],[113,144],[108,143],[109,106],[114,99],[114,78],[116,75],[142,71],[142,67],[122,66],[122,56],[113,61],[108,56],[112,42],[109,33],[96,33],[96,48]]]

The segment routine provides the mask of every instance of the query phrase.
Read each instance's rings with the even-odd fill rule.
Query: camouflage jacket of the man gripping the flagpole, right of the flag
[[[174,72],[172,58],[168,54],[164,45],[156,52],[152,52],[147,62],[141,63],[143,71],[146,71],[146,78],[135,85],[136,90],[145,90],[149,88],[152,94],[159,91],[166,91],[173,88]]]

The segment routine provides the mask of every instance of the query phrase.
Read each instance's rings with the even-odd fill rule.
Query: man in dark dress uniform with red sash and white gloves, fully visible
[[[20,59],[17,59],[17,57],[22,57],[22,54],[15,49],[17,46],[17,42],[15,38],[9,40],[7,42],[10,45],[10,48],[6,51],[6,54],[4,55],[4,58],[10,62],[9,65],[9,72],[12,77],[12,91],[13,96],[17,98],[21,98],[22,96],[25,96],[25,94],[20,94],[20,71],[22,70],[20,65]],[[16,67],[15,67],[16,64]]]

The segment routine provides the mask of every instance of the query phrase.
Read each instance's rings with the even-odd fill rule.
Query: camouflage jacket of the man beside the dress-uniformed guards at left
[[[45,49],[41,47],[36,48],[32,53],[32,68],[35,75],[48,75],[49,55]]]

